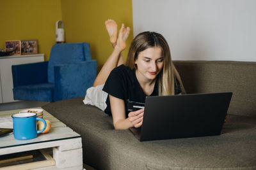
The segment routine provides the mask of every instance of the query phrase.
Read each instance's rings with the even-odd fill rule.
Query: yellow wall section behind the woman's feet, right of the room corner
[[[131,27],[127,39],[127,49],[132,41],[132,0],[61,0],[62,18],[65,27],[66,42],[86,41],[90,43],[92,59],[98,62],[98,71],[104,64],[113,48],[109,43],[105,20],[112,18],[120,25]],[[127,55],[127,51],[123,55]]]

